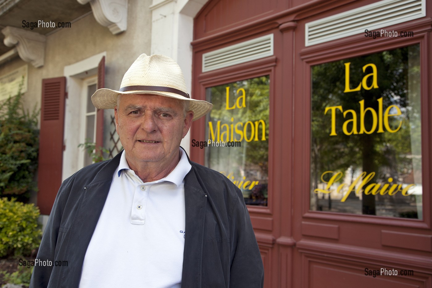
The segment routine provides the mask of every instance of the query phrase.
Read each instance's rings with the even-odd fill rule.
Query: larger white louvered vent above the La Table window
[[[426,16],[426,0],[384,0],[306,23],[306,46]]]

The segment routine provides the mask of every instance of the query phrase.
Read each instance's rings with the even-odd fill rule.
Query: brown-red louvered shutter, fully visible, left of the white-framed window
[[[39,134],[38,206],[50,214],[61,185],[66,77],[42,80]]]

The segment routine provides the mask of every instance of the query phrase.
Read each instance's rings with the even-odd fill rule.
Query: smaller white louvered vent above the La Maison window
[[[273,34],[203,54],[203,72],[273,55]]]

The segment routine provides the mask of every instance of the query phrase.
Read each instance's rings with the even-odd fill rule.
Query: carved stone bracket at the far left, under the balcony
[[[44,35],[11,26],[6,26],[1,32],[5,35],[4,45],[7,47],[15,45],[22,60],[31,63],[36,68],[44,66],[46,41]]]

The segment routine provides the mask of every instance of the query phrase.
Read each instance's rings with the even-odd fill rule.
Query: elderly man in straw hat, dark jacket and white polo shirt
[[[178,64],[142,54],[92,101],[114,108],[124,151],[63,182],[37,256],[51,265],[30,287],[262,287],[241,191],[180,147],[212,104],[189,97]]]

